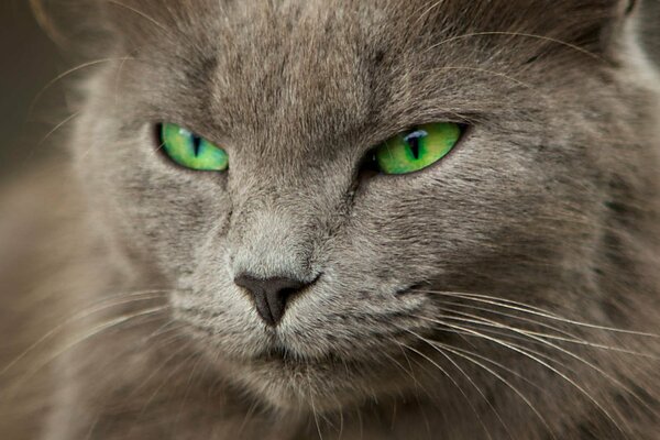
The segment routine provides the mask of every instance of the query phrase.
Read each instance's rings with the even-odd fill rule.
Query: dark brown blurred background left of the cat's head
[[[35,98],[67,65],[28,0],[0,0],[0,183],[48,154],[44,136],[66,116],[62,87]]]

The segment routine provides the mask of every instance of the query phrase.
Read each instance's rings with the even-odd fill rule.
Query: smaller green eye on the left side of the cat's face
[[[229,155],[224,150],[177,124],[162,124],[161,144],[172,161],[186,168],[200,172],[229,168]]]

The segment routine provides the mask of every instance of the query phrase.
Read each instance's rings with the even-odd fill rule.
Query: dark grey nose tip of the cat
[[[262,279],[246,274],[239,275],[234,279],[234,283],[250,292],[256,304],[256,311],[264,322],[271,327],[277,326],[282,317],[284,317],[288,299],[308,285],[308,283],[294,278],[275,277]]]

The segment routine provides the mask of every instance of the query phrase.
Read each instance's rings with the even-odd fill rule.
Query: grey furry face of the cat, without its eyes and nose
[[[564,2],[151,3],[110,7],[123,43],[89,82],[78,167],[119,249],[256,395],[332,407],[414,387],[406,350],[437,358],[418,336],[465,344],[435,322],[443,293],[582,317],[600,295],[632,134],[606,107],[607,63],[571,44],[596,52],[604,2],[582,2],[581,26]],[[441,162],[361,172],[374,145],[444,121],[469,129]],[[162,122],[221,145],[229,170],[173,164]],[[246,273],[309,285],[273,327],[234,283]]]

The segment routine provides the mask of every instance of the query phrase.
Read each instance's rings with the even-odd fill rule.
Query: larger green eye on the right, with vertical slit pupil
[[[416,127],[377,146],[375,165],[384,174],[424,169],[444,157],[461,139],[461,125],[449,122]]]

